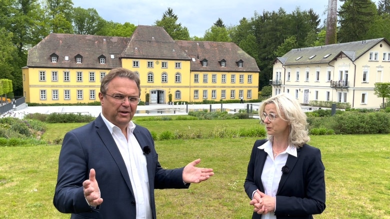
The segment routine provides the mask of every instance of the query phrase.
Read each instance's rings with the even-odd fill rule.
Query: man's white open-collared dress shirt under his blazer
[[[138,141],[133,135],[135,124],[130,121],[127,125],[127,139],[119,127],[113,125],[103,114],[100,114],[110,131],[130,177],[132,191],[135,197],[136,219],[151,219],[149,178],[146,169],[146,158]]]

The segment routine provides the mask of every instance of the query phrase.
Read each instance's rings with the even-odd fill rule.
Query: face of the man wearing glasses
[[[130,104],[127,97],[139,97],[138,87],[135,81],[128,78],[115,77],[108,83],[107,95],[99,93],[101,113],[103,116],[120,129],[126,128],[137,109],[137,104]],[[108,96],[126,96],[124,102],[115,102]]]

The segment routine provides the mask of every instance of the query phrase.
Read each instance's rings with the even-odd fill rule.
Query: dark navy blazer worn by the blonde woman
[[[257,140],[252,148],[244,183],[249,199],[257,189],[264,193],[261,173],[267,153],[257,147],[266,141]],[[277,219],[312,219],[312,215],[325,210],[325,168],[321,152],[307,144],[296,152],[297,157],[288,155],[285,166],[289,171],[281,175],[277,188],[274,212]],[[260,219],[260,216],[253,212],[252,219]]]

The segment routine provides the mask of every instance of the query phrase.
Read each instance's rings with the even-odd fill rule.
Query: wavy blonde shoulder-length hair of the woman
[[[287,93],[280,93],[273,97],[270,97],[262,102],[258,108],[258,115],[261,119],[261,114],[264,112],[265,105],[273,103],[276,106],[278,115],[289,124],[288,144],[290,146],[301,147],[303,144],[310,140],[307,130],[306,114],[302,111],[298,101]],[[267,135],[270,142],[273,140],[272,135]]]

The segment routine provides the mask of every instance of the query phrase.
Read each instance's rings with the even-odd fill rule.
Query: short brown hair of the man
[[[100,93],[105,94],[107,92],[107,90],[108,90],[108,83],[112,79],[114,79],[115,77],[128,78],[130,80],[135,81],[135,83],[137,84],[137,87],[138,87],[138,97],[140,96],[140,94],[141,94],[141,87],[140,87],[140,80],[139,80],[138,75],[136,75],[134,72],[132,72],[132,71],[130,71],[128,69],[121,68],[121,67],[117,67],[117,68],[111,69],[108,72],[108,74],[106,74],[101,79]]]

